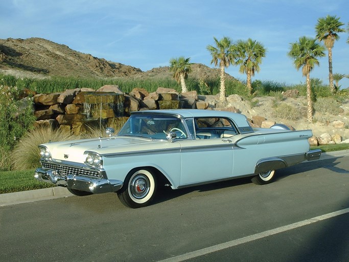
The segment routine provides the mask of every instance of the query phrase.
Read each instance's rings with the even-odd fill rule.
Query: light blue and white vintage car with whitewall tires
[[[117,192],[144,207],[159,185],[172,189],[252,177],[272,181],[275,169],[320,158],[309,149],[311,130],[285,125],[252,128],[246,117],[213,110],[133,112],[118,135],[39,145],[39,181],[75,195]]]

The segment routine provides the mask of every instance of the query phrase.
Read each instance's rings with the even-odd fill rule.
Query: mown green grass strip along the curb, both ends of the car
[[[349,144],[336,144],[311,147],[320,148],[322,152],[349,149]],[[54,187],[53,184],[39,182],[34,178],[34,170],[0,171],[0,194]]]

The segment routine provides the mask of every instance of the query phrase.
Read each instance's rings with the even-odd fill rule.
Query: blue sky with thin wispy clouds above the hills
[[[0,38],[42,37],[92,56],[147,71],[173,57],[214,68],[207,45],[213,37],[252,38],[267,49],[252,80],[305,82],[287,56],[300,36],[315,37],[317,19],[326,15],[349,22],[347,0],[6,0],[0,3]],[[349,74],[348,33],[333,48],[333,73]],[[327,52],[326,52],[327,54]],[[245,80],[238,67],[226,69]],[[328,83],[328,58],[312,78]],[[349,86],[344,78],[342,88]]]

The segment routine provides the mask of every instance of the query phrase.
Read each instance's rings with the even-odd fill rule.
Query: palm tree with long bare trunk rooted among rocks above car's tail
[[[325,47],[316,39],[306,36],[300,37],[298,42],[290,43],[288,56],[293,60],[295,68],[302,68],[303,76],[307,77],[308,122],[313,122],[313,101],[311,99],[310,72],[315,65],[319,65],[318,57],[325,56]]]

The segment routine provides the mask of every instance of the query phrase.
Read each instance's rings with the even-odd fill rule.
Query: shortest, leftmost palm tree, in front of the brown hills
[[[189,58],[181,56],[179,58],[172,58],[170,60],[170,71],[173,72],[173,77],[182,87],[182,93],[188,92],[187,85],[185,85],[185,79],[188,78],[188,74],[192,72],[192,64],[189,62]]]

